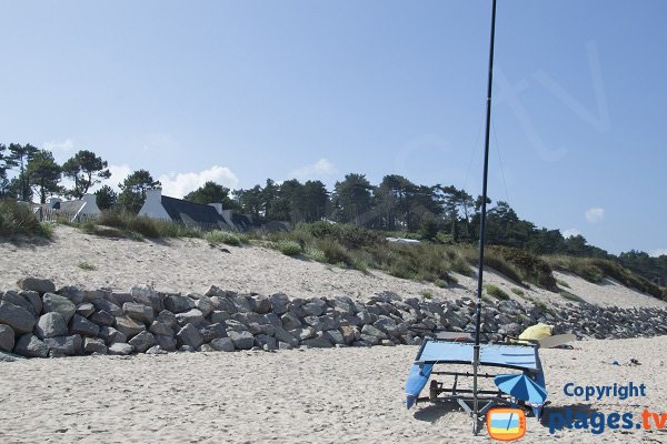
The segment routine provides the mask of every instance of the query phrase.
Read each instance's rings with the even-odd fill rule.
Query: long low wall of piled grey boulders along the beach
[[[56,290],[51,281],[32,278],[17,284],[21,290],[0,293],[0,360],[419,344],[420,331],[474,330],[475,301],[466,297],[430,301],[386,292],[362,303],[239,294],[217,286],[181,295],[150,287]],[[579,337],[667,334],[667,311],[655,307],[488,301],[481,319],[485,341],[516,336],[537,322]]]

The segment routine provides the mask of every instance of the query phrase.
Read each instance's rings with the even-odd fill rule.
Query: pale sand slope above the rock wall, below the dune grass
[[[83,234],[69,226],[58,226],[54,241],[43,245],[0,243],[0,289],[14,289],[24,276],[52,279],[57,286],[100,286],[128,291],[135,285],[153,284],[162,291],[206,292],[210,285],[239,292],[271,294],[285,292],[290,296],[348,295],[366,300],[382,291],[399,295],[419,296],[429,292],[437,297],[474,296],[476,279],[457,275],[459,285],[440,289],[390,276],[379,271],[364,274],[303,259],[288,258],[258,246],[225,246],[229,253],[211,248],[206,241],[165,240],[137,242],[112,240]],[[96,268],[86,271],[78,266],[87,262]],[[570,291],[590,303],[618,306],[665,306],[655,297],[620,285],[595,285],[580,278],[556,273],[571,286]],[[500,285],[508,294],[517,285],[489,270],[485,282]],[[524,290],[527,297],[567,302],[546,290]]]

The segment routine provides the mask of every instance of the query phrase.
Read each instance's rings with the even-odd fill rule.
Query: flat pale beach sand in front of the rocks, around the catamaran
[[[605,414],[667,403],[664,337],[586,341],[541,352],[551,410]],[[30,360],[0,365],[2,443],[482,443],[460,412],[406,411],[415,346]],[[631,357],[643,365],[629,366]],[[611,365],[618,360],[621,365]],[[634,381],[647,397],[585,402],[563,386]],[[548,412],[548,411],[547,411]],[[667,442],[631,430],[550,435],[528,417],[526,443]],[[625,431],[624,431],[625,432]]]

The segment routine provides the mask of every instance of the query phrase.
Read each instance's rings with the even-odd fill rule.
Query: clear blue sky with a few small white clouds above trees
[[[165,194],[386,174],[480,193],[490,0],[0,1],[0,142]],[[489,195],[667,254],[667,2],[498,0]]]

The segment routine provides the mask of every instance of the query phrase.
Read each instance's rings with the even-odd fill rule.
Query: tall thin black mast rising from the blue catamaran
[[[481,188],[481,221],[479,225],[479,262],[477,273],[477,305],[475,309],[475,355],[472,362],[472,396],[474,396],[474,421],[472,431],[478,432],[479,418],[479,401],[477,398],[477,372],[479,367],[479,326],[481,323],[481,291],[484,278],[484,243],[486,234],[486,202],[487,202],[487,183],[489,172],[489,133],[491,125],[491,87],[494,83],[494,41],[496,37],[496,0],[492,0],[491,6],[491,41],[489,49],[489,79],[487,85],[487,113],[486,113],[486,135],[484,142],[484,182]]]

